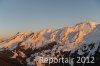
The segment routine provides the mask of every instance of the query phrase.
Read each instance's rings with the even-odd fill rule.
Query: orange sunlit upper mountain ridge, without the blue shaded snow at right
[[[52,41],[59,41],[59,42],[68,42],[68,43],[78,43],[82,41],[83,37],[91,32],[99,23],[96,22],[82,22],[78,23],[75,26],[71,27],[64,27],[57,30],[52,29],[44,29],[40,32],[18,32],[15,36],[13,36],[10,40],[8,40],[6,43],[7,46],[10,44],[13,44],[13,42],[34,42],[39,44],[41,42],[52,42]],[[14,41],[15,40],[15,41]],[[12,42],[11,42],[12,41]],[[11,42],[11,43],[10,43]],[[26,43],[22,43],[24,45]],[[21,45],[21,46],[22,46]],[[4,46],[5,47],[5,46]]]

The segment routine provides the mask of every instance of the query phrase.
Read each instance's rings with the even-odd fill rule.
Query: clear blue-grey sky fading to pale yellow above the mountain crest
[[[85,19],[100,22],[100,0],[0,0],[0,36],[58,29]]]

